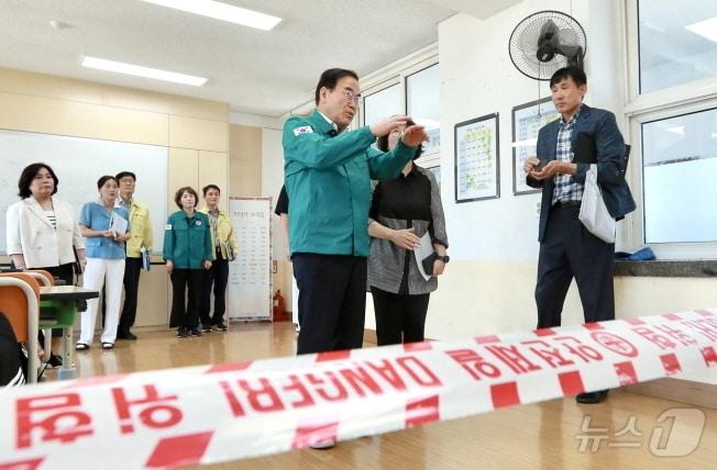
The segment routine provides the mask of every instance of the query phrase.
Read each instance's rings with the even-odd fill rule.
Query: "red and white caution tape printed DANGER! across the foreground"
[[[717,365],[717,310],[0,391],[0,469],[213,463]]]

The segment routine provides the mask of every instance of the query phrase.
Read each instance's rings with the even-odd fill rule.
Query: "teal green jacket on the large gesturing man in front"
[[[317,110],[284,124],[291,253],[368,256],[371,180],[397,178],[416,147],[372,148],[368,126],[333,133]]]

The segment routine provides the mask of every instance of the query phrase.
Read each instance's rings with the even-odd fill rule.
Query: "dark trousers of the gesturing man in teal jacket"
[[[297,354],[356,349],[366,315],[366,258],[295,254],[299,288]]]

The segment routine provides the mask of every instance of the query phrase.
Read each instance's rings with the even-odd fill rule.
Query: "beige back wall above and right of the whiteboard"
[[[168,147],[168,213],[180,186],[228,186],[228,123],[227,103],[0,68],[0,128]],[[162,266],[143,272],[136,326],[167,325],[168,295]]]

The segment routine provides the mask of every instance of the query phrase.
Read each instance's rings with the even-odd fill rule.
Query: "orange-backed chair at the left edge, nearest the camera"
[[[40,283],[25,272],[0,273],[0,311],[18,337],[27,343],[27,382],[37,381],[37,328],[40,322]]]

